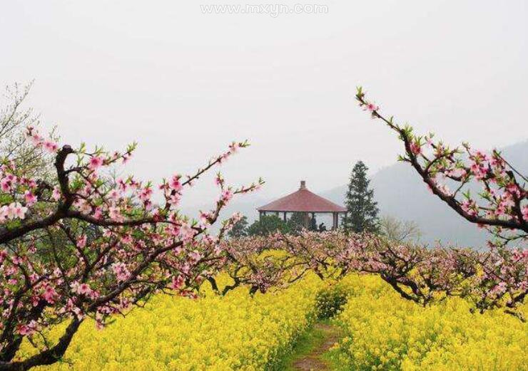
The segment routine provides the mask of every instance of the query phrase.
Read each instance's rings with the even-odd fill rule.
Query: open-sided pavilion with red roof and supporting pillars
[[[288,219],[288,213],[303,213],[305,227],[308,228],[308,215],[315,218],[315,214],[332,214],[332,229],[337,229],[339,225],[339,214],[347,213],[347,209],[333,202],[310,192],[306,188],[306,182],[300,181],[298,191],[288,194],[288,196],[277,199],[269,204],[259,207],[258,214],[264,216],[266,213],[274,213],[277,216],[282,213],[284,221]]]

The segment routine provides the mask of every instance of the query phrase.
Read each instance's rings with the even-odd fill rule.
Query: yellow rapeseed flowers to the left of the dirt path
[[[103,330],[83,323],[66,361],[36,370],[264,370],[310,325],[315,276],[276,293],[158,296]],[[22,352],[31,352],[28,344]]]

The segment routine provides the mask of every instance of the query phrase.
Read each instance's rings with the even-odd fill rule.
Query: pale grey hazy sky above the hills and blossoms
[[[276,17],[200,10],[246,4],[221,0],[0,4],[0,83],[35,79],[29,104],[63,142],[137,140],[127,171],[143,179],[190,172],[245,138],[253,146],[223,172],[264,177],[263,198],[300,179],[343,184],[360,159],[392,164],[400,143],[357,107],[356,85],[452,144],[528,137],[527,1],[317,0],[303,4],[327,14]]]

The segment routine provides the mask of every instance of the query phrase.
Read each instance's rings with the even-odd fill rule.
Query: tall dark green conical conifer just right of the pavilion
[[[377,202],[374,201],[374,191],[369,188],[370,180],[367,179],[368,167],[362,161],[356,162],[345,195],[347,216],[343,219],[342,226],[345,231],[376,232],[378,229]]]

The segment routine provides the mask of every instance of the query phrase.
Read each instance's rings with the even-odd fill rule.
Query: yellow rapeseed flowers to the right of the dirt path
[[[460,298],[422,308],[375,276],[345,285],[352,295],[337,320],[348,336],[335,350],[342,369],[528,370],[528,325],[502,310],[472,314]]]

